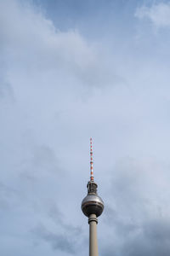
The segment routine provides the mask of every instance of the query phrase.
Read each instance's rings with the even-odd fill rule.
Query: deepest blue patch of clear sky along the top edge
[[[129,25],[133,24],[133,14],[139,6],[135,0],[34,0],[34,3],[45,10],[60,30],[77,29],[89,38],[111,36],[111,29],[117,34],[130,32],[133,26]]]

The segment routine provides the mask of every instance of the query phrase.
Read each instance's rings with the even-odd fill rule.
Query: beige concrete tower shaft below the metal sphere
[[[97,240],[97,224],[98,219],[95,214],[91,214],[88,218],[89,224],[89,256],[99,256],[98,240]]]

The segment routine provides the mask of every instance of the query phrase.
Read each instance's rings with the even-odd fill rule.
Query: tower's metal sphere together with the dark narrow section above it
[[[104,202],[97,194],[97,184],[88,182],[88,195],[82,200],[82,212],[89,217],[95,214],[99,217],[104,210]]]

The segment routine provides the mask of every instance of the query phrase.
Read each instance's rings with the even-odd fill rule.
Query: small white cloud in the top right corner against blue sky
[[[136,10],[139,19],[147,18],[156,27],[170,26],[170,3],[156,3],[150,7],[143,6]]]

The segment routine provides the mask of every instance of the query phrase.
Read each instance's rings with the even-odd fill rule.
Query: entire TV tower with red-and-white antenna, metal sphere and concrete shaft
[[[82,212],[88,217],[89,224],[89,256],[99,256],[97,241],[97,224],[99,215],[104,210],[104,202],[97,194],[97,183],[94,183],[94,161],[92,138],[90,138],[90,181],[88,182],[88,195],[82,200]]]

